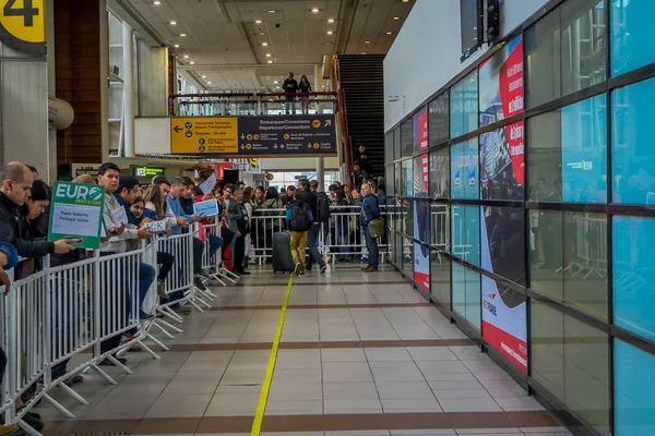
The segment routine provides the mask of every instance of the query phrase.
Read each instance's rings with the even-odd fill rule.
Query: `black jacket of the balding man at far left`
[[[39,258],[55,253],[55,243],[32,239],[21,207],[0,192],[0,241],[16,247],[19,256]]]

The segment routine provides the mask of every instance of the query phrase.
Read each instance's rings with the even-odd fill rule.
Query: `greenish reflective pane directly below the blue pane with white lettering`
[[[531,210],[529,241],[529,287],[606,319],[607,217]]]

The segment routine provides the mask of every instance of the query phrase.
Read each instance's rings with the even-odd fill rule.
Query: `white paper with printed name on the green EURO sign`
[[[99,207],[56,203],[51,214],[52,233],[96,238],[98,235]]]

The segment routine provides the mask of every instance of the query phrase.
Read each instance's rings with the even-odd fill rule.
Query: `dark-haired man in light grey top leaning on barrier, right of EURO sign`
[[[150,230],[144,227],[128,228],[128,226],[126,226],[126,225],[121,225],[119,227],[114,222],[115,211],[120,209],[121,207],[123,207],[117,199],[117,196],[115,196],[115,193],[118,191],[119,183],[120,183],[120,169],[118,168],[118,166],[116,164],[106,162],[100,166],[100,168],[98,169],[98,183],[100,185],[105,186],[105,210],[103,213],[103,221],[105,225],[105,231],[106,231],[107,235],[109,237],[109,240],[107,242],[100,243],[100,255],[107,256],[107,255],[112,255],[112,254],[117,254],[117,253],[126,253],[126,251],[127,251],[126,241],[127,240],[152,238],[153,233],[151,233]],[[132,196],[135,194],[135,187],[128,186],[126,183],[126,184],[123,184],[121,191],[119,192],[119,196],[120,196],[120,193],[124,194],[124,197],[122,197],[123,202],[129,204],[129,203],[131,203],[130,198],[132,202],[134,201],[134,198]],[[127,213],[127,210],[126,210],[126,213]],[[147,318],[152,318],[153,316],[143,313],[143,311],[141,310],[141,303],[143,303],[145,293],[147,293],[147,289],[150,288],[153,280],[155,279],[155,268],[153,268],[152,266],[144,264],[142,262],[138,263],[138,268],[139,268],[139,296],[140,296],[139,311],[141,314],[141,319],[147,319]],[[119,316],[122,316],[121,311],[124,311],[123,313],[129,316],[129,313],[130,313],[129,290],[122,289],[121,291],[123,292],[123,294],[121,296],[122,296],[122,299],[124,299],[126,306],[124,307],[116,307],[116,310],[118,311],[117,314]],[[109,303],[109,301],[111,301],[109,293],[110,293],[110,290],[107,289],[107,302],[106,303]],[[107,307],[106,310],[109,311],[110,308]],[[102,353],[104,354],[108,351],[118,349],[118,347],[120,346],[121,337],[122,337],[122,335],[119,334],[119,335],[116,335],[114,337],[110,337],[110,338],[104,340],[100,343]],[[115,358],[121,363],[127,362],[127,360],[123,358],[118,358],[118,356],[115,356]],[[104,360],[103,362],[100,362],[100,365],[110,366],[110,365],[114,365],[114,363],[108,360]]]

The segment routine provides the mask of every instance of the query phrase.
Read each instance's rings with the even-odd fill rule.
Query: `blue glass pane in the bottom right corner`
[[[617,436],[655,435],[655,356],[615,339]]]

